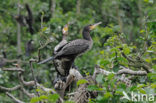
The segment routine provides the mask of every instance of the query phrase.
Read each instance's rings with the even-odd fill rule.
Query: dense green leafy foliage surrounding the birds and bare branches
[[[33,34],[29,32],[28,26],[20,25],[15,19],[19,13],[27,15],[26,3],[33,14]],[[89,91],[98,92],[98,96],[90,98],[89,102],[133,103],[131,99],[121,99],[125,96],[124,93],[128,96],[131,96],[132,92],[147,94],[148,97],[151,94],[156,95],[156,1],[154,0],[1,0],[0,86],[10,88],[19,84],[17,72],[2,70],[14,67],[15,63],[25,70],[23,76],[26,81],[33,80],[29,60],[38,57],[43,60],[50,57],[55,45],[61,41],[61,29],[65,24],[70,23],[68,40],[71,41],[82,38],[84,26],[99,21],[102,24],[91,32],[93,48],[75,61],[75,65],[84,77],[92,75],[96,65],[111,72],[109,75],[97,75],[97,84],[87,87]],[[53,88],[53,80],[56,77],[53,64],[33,63],[32,66],[37,81],[45,87]],[[119,75],[119,78],[120,76],[130,78],[131,83],[127,86],[124,82],[117,82],[115,75],[123,68],[146,73],[141,76]],[[80,80],[77,84],[84,83],[87,81]],[[29,92],[36,91],[34,86],[26,89]],[[40,89],[37,91],[42,92]],[[0,103],[12,103],[13,100],[6,96],[5,92],[0,89]],[[32,103],[38,100],[53,103],[58,99],[57,94],[43,93],[44,95],[38,98],[30,99],[20,90],[10,93],[22,101]],[[66,95],[65,100],[68,99]],[[146,102],[153,103],[149,100]]]

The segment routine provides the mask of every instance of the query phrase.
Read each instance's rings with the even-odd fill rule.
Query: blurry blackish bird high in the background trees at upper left
[[[33,26],[32,26],[32,24],[33,24],[33,15],[32,15],[32,11],[31,11],[31,9],[30,9],[30,7],[29,7],[28,4],[25,4],[25,8],[26,8],[26,10],[27,10],[27,12],[28,12],[27,16],[24,16],[24,15],[19,14],[19,15],[16,15],[16,16],[15,16],[15,19],[16,19],[16,21],[17,21],[20,25],[22,25],[22,26],[27,26],[29,32],[30,32],[31,34],[33,34],[33,33],[34,33],[34,29],[33,29]]]

